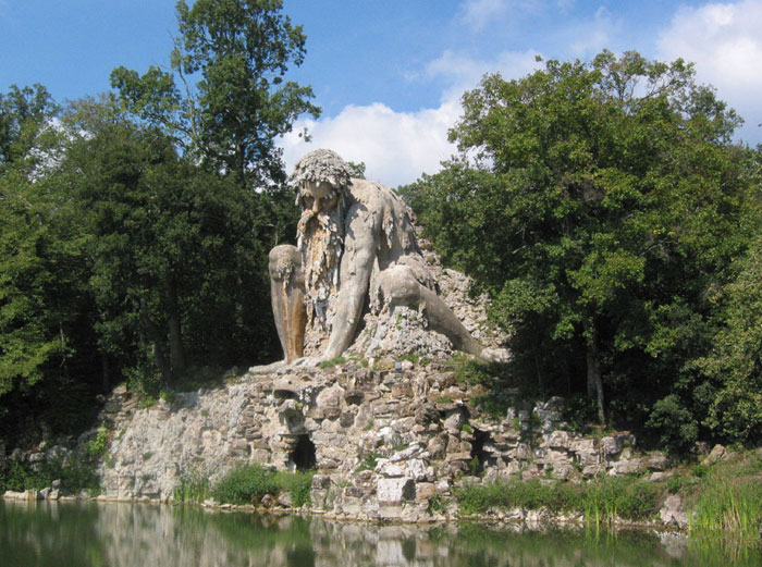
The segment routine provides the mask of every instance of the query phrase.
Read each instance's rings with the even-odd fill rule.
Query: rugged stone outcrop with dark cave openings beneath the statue
[[[476,473],[577,480],[649,466],[632,457],[629,434],[597,442],[568,431],[558,397],[516,399],[493,417],[478,403],[483,394],[445,365],[410,360],[246,373],[144,409],[116,390],[103,416],[113,439],[102,497],[171,501],[184,477],[213,482],[258,463],[315,467],[312,507],[331,517],[423,521],[454,513],[432,503]]]

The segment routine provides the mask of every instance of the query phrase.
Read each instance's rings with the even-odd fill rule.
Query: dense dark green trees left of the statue
[[[119,381],[157,396],[280,355],[268,251],[298,213],[274,139],[319,111],[283,78],[305,36],[281,5],[181,1],[170,72],[119,67],[65,109],[0,94],[8,447],[81,431]]]

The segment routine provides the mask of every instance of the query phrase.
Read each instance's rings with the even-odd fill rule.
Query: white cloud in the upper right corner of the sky
[[[741,136],[762,141],[762,0],[680,8],[657,44],[659,58],[696,63],[699,82],[747,120]]]

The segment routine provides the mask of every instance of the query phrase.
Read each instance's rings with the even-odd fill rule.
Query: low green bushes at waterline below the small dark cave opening
[[[294,506],[299,507],[310,502],[312,474],[311,471],[275,472],[259,465],[242,466],[221,478],[209,493],[220,504],[243,505],[256,504],[266,494],[278,496],[288,492]]]

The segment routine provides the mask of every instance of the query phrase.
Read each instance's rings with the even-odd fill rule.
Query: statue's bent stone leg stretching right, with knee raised
[[[397,264],[379,272],[376,287],[386,303],[409,306],[422,304],[423,315],[431,329],[450,338],[456,349],[477,356],[483,350],[484,347],[471,336],[447,304],[418,283],[408,267]]]

